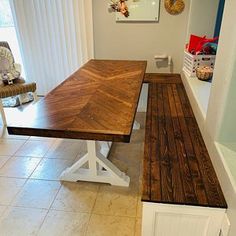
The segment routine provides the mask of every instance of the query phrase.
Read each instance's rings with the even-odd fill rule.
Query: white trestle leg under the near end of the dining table
[[[111,143],[99,142],[98,144],[100,145],[99,151],[96,150],[95,141],[87,141],[88,153],[63,171],[60,179],[72,182],[78,180],[101,182],[128,187],[130,182],[129,176],[121,172],[107,159]],[[84,167],[86,163],[88,168]]]

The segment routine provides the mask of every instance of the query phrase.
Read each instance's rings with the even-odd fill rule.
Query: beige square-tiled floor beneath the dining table
[[[60,182],[86,152],[81,140],[12,136],[0,124],[0,236],[138,236],[145,114],[131,143],[109,159],[131,177],[129,188]]]

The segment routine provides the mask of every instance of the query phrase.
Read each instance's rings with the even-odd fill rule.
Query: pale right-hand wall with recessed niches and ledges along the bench
[[[196,9],[204,6],[203,11],[210,11],[209,4],[218,3],[218,0],[191,1],[186,41],[191,33],[213,36],[209,24],[199,23]],[[236,235],[236,29],[230,27],[235,8],[236,1],[225,1],[212,83],[203,83],[182,72],[186,92],[228,203],[229,236]]]

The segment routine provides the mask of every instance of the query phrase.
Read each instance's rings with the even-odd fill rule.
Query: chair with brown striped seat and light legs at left
[[[9,50],[10,46],[7,42],[0,42],[1,47],[6,47]],[[21,95],[24,93],[32,92],[34,96],[34,100],[37,100],[36,95],[36,83],[25,83],[25,80],[22,78],[16,79],[14,84],[12,85],[5,85],[4,83],[0,82],[0,113],[2,116],[3,125],[7,125],[6,116],[4,113],[4,108],[2,104],[2,99],[12,96]],[[21,103],[21,100],[20,100]]]

